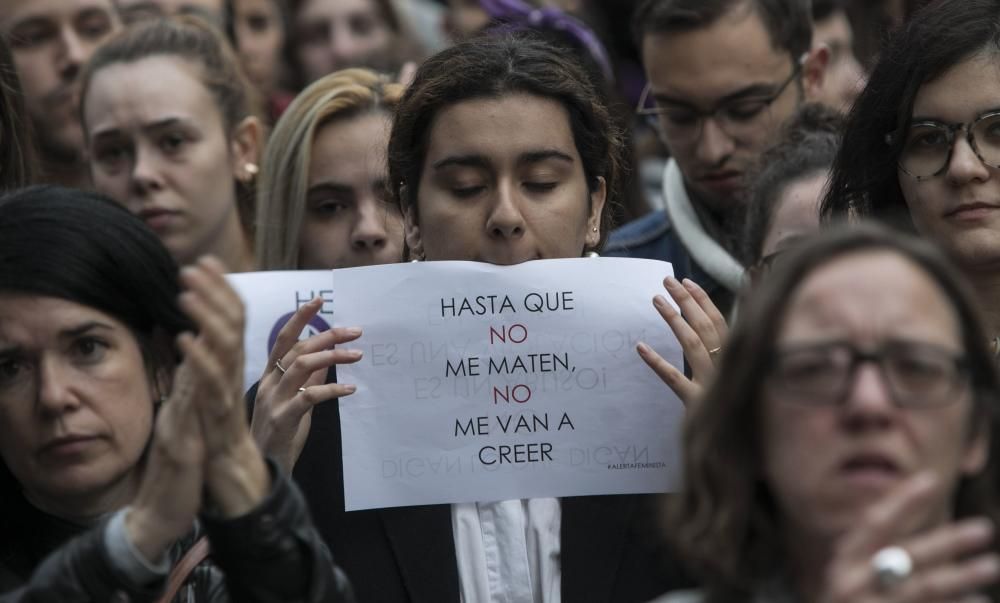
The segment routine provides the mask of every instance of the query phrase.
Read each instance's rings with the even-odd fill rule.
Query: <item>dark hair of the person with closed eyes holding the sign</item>
[[[530,32],[480,35],[445,49],[417,70],[399,103],[389,136],[389,194],[405,215],[416,212],[420,176],[434,118],[468,100],[525,93],[558,101],[569,117],[587,186],[604,178],[603,246],[624,169],[624,143],[603,91],[567,51]],[[405,192],[405,194],[404,194]]]

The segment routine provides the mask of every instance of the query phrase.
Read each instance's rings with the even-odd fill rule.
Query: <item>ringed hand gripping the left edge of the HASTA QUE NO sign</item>
[[[254,400],[250,427],[254,439],[288,473],[305,446],[313,407],[349,396],[355,389],[326,383],[326,372],[331,366],[361,359],[360,350],[334,349],[360,337],[361,329],[330,329],[298,340],[322,305],[320,298],[303,305],[278,332]]]

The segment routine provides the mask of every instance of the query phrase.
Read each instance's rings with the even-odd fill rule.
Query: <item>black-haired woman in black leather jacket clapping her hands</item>
[[[0,200],[0,601],[352,600],[247,429],[222,271],[96,194]]]

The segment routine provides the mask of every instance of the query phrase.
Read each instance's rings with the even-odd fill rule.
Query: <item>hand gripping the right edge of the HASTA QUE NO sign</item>
[[[729,337],[729,326],[712,299],[694,281],[684,279],[682,283],[667,277],[663,285],[681,311],[674,309],[662,295],[653,298],[653,306],[681,344],[691,366],[692,378],[645,343],[640,343],[636,349],[681,402],[691,407],[701,400],[705,385],[715,376],[715,363]]]

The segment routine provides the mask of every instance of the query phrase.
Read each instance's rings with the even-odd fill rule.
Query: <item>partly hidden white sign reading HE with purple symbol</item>
[[[242,272],[226,278],[246,307],[243,391],[260,380],[278,331],[299,306],[323,298],[323,307],[302,338],[325,331],[333,323],[333,279],[329,270]]]

